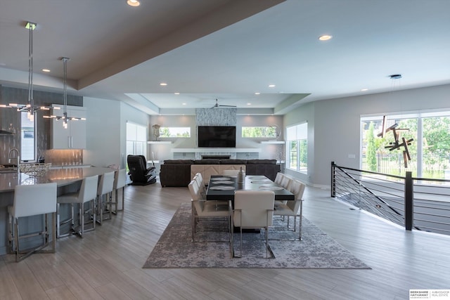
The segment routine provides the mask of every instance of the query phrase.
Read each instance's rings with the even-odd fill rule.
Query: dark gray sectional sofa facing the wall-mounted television
[[[160,182],[162,187],[188,186],[192,180],[191,165],[193,164],[245,165],[245,174],[264,175],[272,181],[281,170],[280,165],[276,164],[276,159],[169,159],[161,164]]]

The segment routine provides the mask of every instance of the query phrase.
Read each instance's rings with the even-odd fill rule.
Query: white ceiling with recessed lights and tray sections
[[[26,21],[37,22],[35,90],[62,90],[66,56],[69,93],[149,114],[215,99],[283,114],[313,100],[450,84],[449,0],[125,2],[2,1],[0,84],[27,87]]]

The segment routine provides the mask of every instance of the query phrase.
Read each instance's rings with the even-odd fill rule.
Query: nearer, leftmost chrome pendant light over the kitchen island
[[[28,102],[27,104],[9,103],[8,107],[13,107],[18,112],[27,112],[27,118],[31,122],[34,122],[34,114],[37,110],[50,110],[49,106],[34,105],[33,99],[33,31],[36,29],[37,24],[34,22],[27,22],[25,28],[29,32],[28,37]]]

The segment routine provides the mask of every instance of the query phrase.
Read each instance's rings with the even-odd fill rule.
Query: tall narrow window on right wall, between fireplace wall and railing
[[[308,123],[290,126],[286,131],[288,169],[307,173],[308,171]]]

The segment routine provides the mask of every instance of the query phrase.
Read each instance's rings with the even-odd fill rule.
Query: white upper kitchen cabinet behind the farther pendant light
[[[53,115],[62,117],[64,113],[63,105],[53,105],[60,107],[60,110],[53,109]],[[86,108],[80,106],[67,106],[68,117],[86,118]],[[70,120],[68,128],[63,126],[62,119],[52,119],[52,149],[86,149],[86,121]]]

